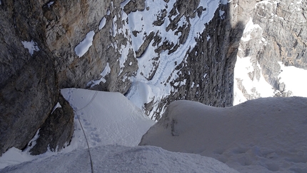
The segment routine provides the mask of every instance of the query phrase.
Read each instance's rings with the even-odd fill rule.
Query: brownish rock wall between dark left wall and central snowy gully
[[[129,89],[128,77],[134,76],[138,65],[129,46],[121,1],[54,1],[42,9],[46,44],[56,59],[60,88],[90,87],[89,81],[101,79],[101,71],[109,64],[111,71],[105,76],[106,82],[92,89],[121,93]],[[99,26],[102,19],[105,24]],[[75,47],[89,31],[95,33],[93,46],[79,57]]]

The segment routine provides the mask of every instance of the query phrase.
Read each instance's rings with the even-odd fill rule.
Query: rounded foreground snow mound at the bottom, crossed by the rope
[[[158,147],[91,148],[94,172],[236,172],[216,159]],[[86,149],[6,167],[0,172],[91,172]]]

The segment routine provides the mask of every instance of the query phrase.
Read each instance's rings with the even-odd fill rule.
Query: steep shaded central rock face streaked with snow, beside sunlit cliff
[[[134,14],[144,26],[134,27],[134,36],[144,34],[146,39],[136,49],[137,82],[127,97],[156,120],[166,105],[178,99],[231,106],[233,68],[244,29],[236,18],[236,3],[167,1],[156,7],[161,9],[149,24],[150,4],[146,11]],[[140,102],[139,97],[144,100]]]

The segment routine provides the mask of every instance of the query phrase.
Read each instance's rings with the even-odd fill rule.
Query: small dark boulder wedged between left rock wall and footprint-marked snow
[[[31,147],[33,155],[43,154],[50,149],[52,152],[59,152],[69,144],[74,133],[74,110],[69,102],[59,94],[58,103],[53,112],[39,128],[39,138],[36,144]],[[31,145],[31,144],[29,144]]]

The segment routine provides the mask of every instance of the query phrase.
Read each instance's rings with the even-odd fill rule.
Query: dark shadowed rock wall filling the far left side
[[[45,3],[1,1],[0,155],[10,147],[26,147],[59,96],[55,59],[41,18]]]

